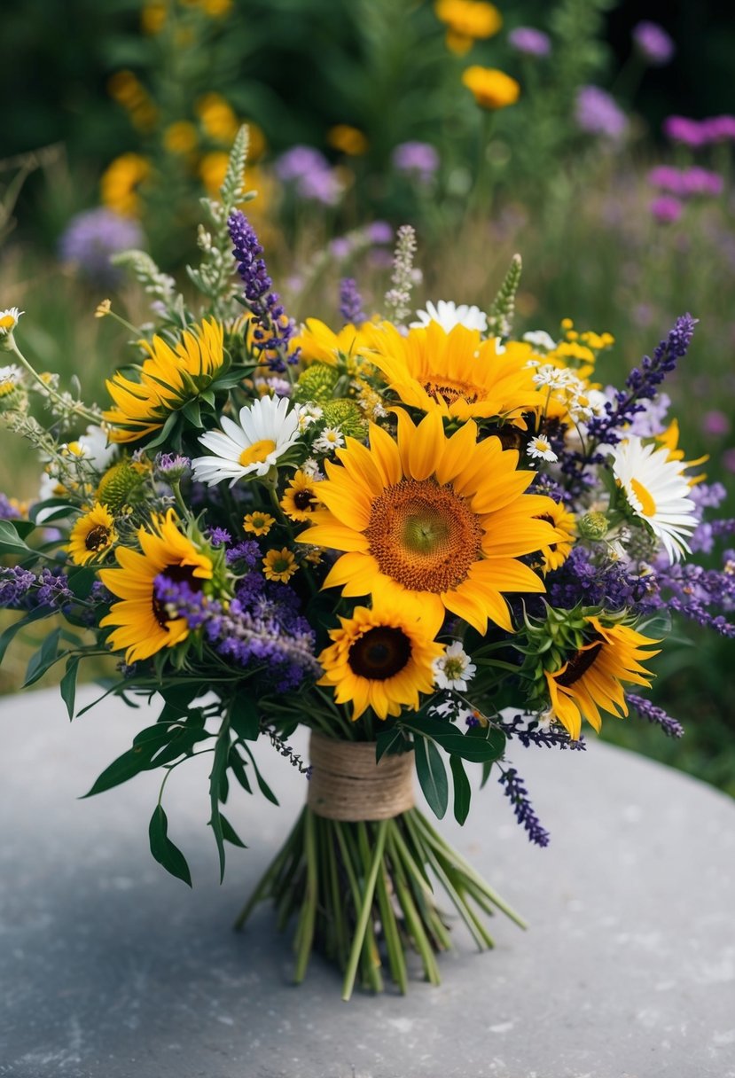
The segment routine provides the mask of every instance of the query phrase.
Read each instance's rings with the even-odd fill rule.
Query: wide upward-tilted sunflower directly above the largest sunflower
[[[448,333],[439,322],[412,329],[405,336],[388,323],[370,331],[371,361],[404,404],[439,411],[453,419],[521,420],[542,405],[529,344],[510,341],[504,350],[480,330],[458,323]],[[523,425],[523,420],[521,420]]]

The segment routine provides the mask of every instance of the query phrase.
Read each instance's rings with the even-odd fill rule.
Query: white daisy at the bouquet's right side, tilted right
[[[661,540],[670,562],[691,553],[687,538],[696,527],[696,506],[681,461],[666,446],[644,445],[635,434],[610,450],[612,472],[634,513]]]

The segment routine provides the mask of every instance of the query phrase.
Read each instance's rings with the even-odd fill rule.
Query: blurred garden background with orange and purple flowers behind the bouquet
[[[217,195],[248,123],[247,212],[296,319],[338,328],[345,278],[370,315],[404,222],[418,235],[419,304],[486,307],[517,251],[517,331],[558,334],[568,317],[611,332],[599,368],[611,383],[691,312],[694,343],[667,391],[687,458],[708,455],[735,515],[727,8],[26,0],[3,14],[0,307],[26,313],[17,336],[42,369],[103,401],[129,333],[95,308],[109,298],[139,324],[150,302],[110,255],[145,250],[183,286],[198,199]],[[0,429],[0,492],[36,498],[23,442]],[[733,644],[685,630],[654,688],[683,741],[637,719],[609,718],[602,736],[735,794]],[[0,691],[24,668],[16,646]]]

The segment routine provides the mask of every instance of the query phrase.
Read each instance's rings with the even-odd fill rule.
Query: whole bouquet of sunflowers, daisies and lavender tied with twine
[[[345,998],[385,977],[405,991],[412,949],[439,982],[447,908],[481,949],[493,913],[523,924],[415,806],[414,773],[462,824],[479,764],[544,846],[509,746],[581,750],[583,720],[629,710],[678,736],[637,693],[671,614],[735,633],[732,553],[722,570],[688,559],[733,530],[704,522],[724,492],[685,458],[661,391],[695,320],[605,388],[609,334],[565,320],[513,336],[517,257],[487,310],[413,315],[404,226],[380,313],[347,280],[341,329],[297,327],[242,209],[246,151],[242,130],[221,201],[204,201],[196,304],[144,253],[119,257],[155,321],[129,327],[103,409],[39,373],[20,312],[0,315],[2,417],[42,461],[30,508],[0,496],[0,605],[22,612],[0,653],[52,619],[26,685],[63,662],[73,717],[80,664],[112,654],[100,699],[161,705],[89,794],[160,769],[151,851],[186,883],[163,807],[174,771],[210,754],[223,873],[244,844],[232,787],[276,801],[256,743],[286,757],[305,805],[237,924],[272,899],[295,923],[296,981],[318,948]]]

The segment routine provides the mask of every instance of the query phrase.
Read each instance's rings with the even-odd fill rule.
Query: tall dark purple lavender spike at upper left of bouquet
[[[272,290],[273,281],[261,258],[263,248],[247,217],[236,209],[227,224],[237,272],[245,284],[245,298],[255,316],[254,346],[264,353],[266,364],[272,371],[282,372],[286,364],[281,356],[288,354],[294,327],[286,317],[278,293]],[[288,355],[289,362],[295,362],[296,359],[295,353]]]

